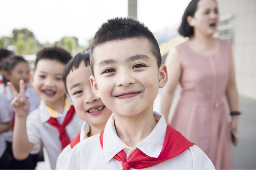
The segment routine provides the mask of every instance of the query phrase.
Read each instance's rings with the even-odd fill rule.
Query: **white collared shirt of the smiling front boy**
[[[154,117],[160,118],[156,127],[136,146],[150,157],[160,155],[167,128],[162,114],[154,112]],[[65,157],[60,169],[122,169],[122,162],[113,157],[126,147],[116,134],[113,114],[104,130],[104,151],[100,146],[99,136],[100,134],[97,134],[78,143]],[[193,145],[180,155],[148,169],[215,169],[215,167],[205,153]]]

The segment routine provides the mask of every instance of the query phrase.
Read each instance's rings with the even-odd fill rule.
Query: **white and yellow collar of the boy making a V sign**
[[[73,103],[70,101],[70,97],[66,95],[64,108],[69,111],[70,107]],[[42,123],[47,122],[50,118],[58,118],[57,111],[47,106],[43,100],[40,102],[40,106],[38,108],[40,110],[40,119]]]

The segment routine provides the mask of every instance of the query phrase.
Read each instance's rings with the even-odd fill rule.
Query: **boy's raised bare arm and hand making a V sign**
[[[26,133],[26,118],[29,112],[29,102],[24,96],[26,87],[23,80],[19,81],[18,93],[12,83],[8,82],[7,85],[14,95],[14,99],[11,102],[12,109],[15,112],[13,155],[17,160],[23,160],[29,156],[34,146],[34,144],[28,142]]]

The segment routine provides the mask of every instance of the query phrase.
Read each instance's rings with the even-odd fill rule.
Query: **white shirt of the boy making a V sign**
[[[73,104],[70,101],[70,98],[67,96],[65,100],[65,109],[62,114],[46,106],[44,102],[41,101],[39,108],[32,111],[27,116],[27,137],[28,141],[34,144],[30,154],[39,153],[43,146],[47,150],[52,169],[55,169],[56,167],[57,157],[61,153],[62,147],[58,129],[47,123],[47,121],[53,117],[57,119],[59,124],[62,124],[68,110],[70,109],[70,105]],[[77,136],[81,130],[82,124],[83,120],[80,119],[77,114],[75,114],[70,123],[65,127],[70,141]]]

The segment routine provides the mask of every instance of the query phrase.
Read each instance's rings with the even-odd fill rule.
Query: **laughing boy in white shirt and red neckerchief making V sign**
[[[16,159],[23,160],[29,154],[37,154],[44,146],[51,167],[55,169],[58,155],[79,133],[83,121],[66,96],[61,79],[70,59],[70,53],[59,47],[44,48],[38,52],[31,83],[42,101],[38,109],[28,116],[29,102],[24,96],[24,81],[19,82],[19,93],[12,83],[7,83],[14,95],[11,106],[16,113],[13,133],[13,155]]]

